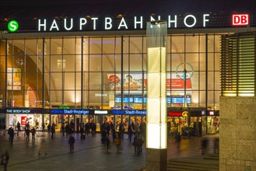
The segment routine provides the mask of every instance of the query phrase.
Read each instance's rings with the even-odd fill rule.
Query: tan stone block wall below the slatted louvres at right
[[[221,96],[219,171],[256,171],[256,97]]]

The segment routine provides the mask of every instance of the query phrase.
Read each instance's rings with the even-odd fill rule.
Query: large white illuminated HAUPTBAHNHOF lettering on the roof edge
[[[198,27],[200,24],[201,27],[205,27],[207,23],[209,23],[210,14],[202,14],[201,16],[195,16],[189,14],[187,16],[183,16],[180,19],[179,15],[166,16],[168,28],[177,28],[187,27],[193,28],[195,26]],[[38,19],[37,20],[37,31],[72,31],[72,30],[142,30],[146,29],[147,21],[155,21],[161,20],[161,16],[150,16],[150,18],[145,19],[143,16],[134,16],[132,18],[124,18],[116,19],[116,17],[91,17],[91,18],[69,18],[69,19]],[[180,23],[180,20],[182,22]],[[198,20],[202,22],[198,22]],[[88,29],[90,28],[90,29]]]

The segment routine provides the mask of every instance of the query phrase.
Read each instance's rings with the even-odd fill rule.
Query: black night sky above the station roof
[[[17,16],[110,16],[178,12],[250,12],[256,0],[9,0],[0,5],[0,19]]]

